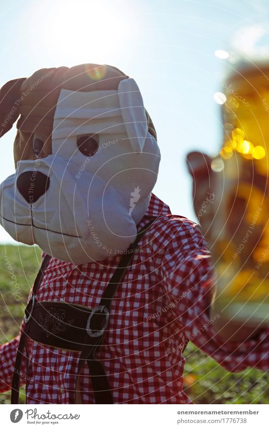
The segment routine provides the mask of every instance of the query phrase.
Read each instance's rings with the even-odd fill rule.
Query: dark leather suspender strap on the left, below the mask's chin
[[[51,258],[51,256],[46,255],[43,262],[42,262],[42,265],[41,265],[41,267],[37,273],[36,279],[34,281],[32,296],[31,296],[31,298],[30,298],[30,300],[26,306],[26,309],[25,309],[25,313],[26,313],[26,315],[24,316],[25,328],[24,328],[23,332],[21,333],[21,338],[19,341],[19,346],[18,346],[16,360],[15,360],[13,378],[12,378],[12,389],[11,389],[11,403],[12,404],[19,404],[20,369],[21,369],[21,363],[22,363],[22,356],[24,353],[25,344],[26,344],[26,340],[27,340],[27,332],[28,332],[29,326],[30,326],[30,322],[28,323],[28,321],[31,318],[31,311],[32,311],[33,306],[34,306],[36,292],[38,290],[41,278],[44,275],[44,271],[46,269],[46,266],[47,266],[50,258]],[[27,316],[27,314],[28,314],[28,316]]]

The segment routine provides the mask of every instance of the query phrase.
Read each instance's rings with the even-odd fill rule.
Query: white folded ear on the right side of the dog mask
[[[121,113],[134,152],[143,152],[147,135],[147,117],[143,99],[134,79],[124,79],[118,86]]]

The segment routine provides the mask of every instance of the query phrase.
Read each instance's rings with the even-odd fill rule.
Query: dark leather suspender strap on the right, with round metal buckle
[[[94,399],[96,404],[113,404],[112,394],[109,388],[109,382],[107,380],[104,368],[102,364],[95,359],[95,352],[101,346],[104,338],[105,327],[108,324],[108,315],[110,310],[111,301],[117,291],[118,285],[121,282],[128,264],[134,256],[134,253],[139,249],[138,243],[141,240],[144,233],[150,228],[151,224],[156,220],[156,217],[151,220],[140,229],[137,233],[136,240],[130,245],[127,253],[121,259],[118,267],[116,268],[110,282],[104,290],[99,306],[93,310],[90,316],[90,324],[88,326],[88,335],[85,337],[84,346],[80,355],[77,373],[75,403],[81,404],[80,395],[80,372],[84,362],[86,361],[89,367],[91,383],[94,392]],[[95,311],[96,310],[96,311]],[[103,323],[105,322],[105,326]]]

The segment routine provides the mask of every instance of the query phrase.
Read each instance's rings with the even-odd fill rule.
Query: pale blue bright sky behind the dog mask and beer
[[[268,34],[268,13],[267,0],[1,0],[0,85],[44,67],[123,70],[137,81],[157,131],[162,161],[154,193],[194,220],[186,154],[215,154],[221,144],[213,94],[228,60],[214,53],[234,46],[253,54]],[[14,173],[15,133],[14,126],[1,139],[0,182]],[[15,243],[3,228],[0,242]]]

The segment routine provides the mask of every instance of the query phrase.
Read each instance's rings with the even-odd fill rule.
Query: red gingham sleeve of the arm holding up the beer
[[[163,256],[161,272],[168,301],[185,336],[229,371],[248,366],[269,369],[269,329],[243,343],[221,341],[209,316],[213,292],[213,270],[206,242],[197,224],[172,220],[170,240]],[[219,317],[211,315],[211,319]]]

